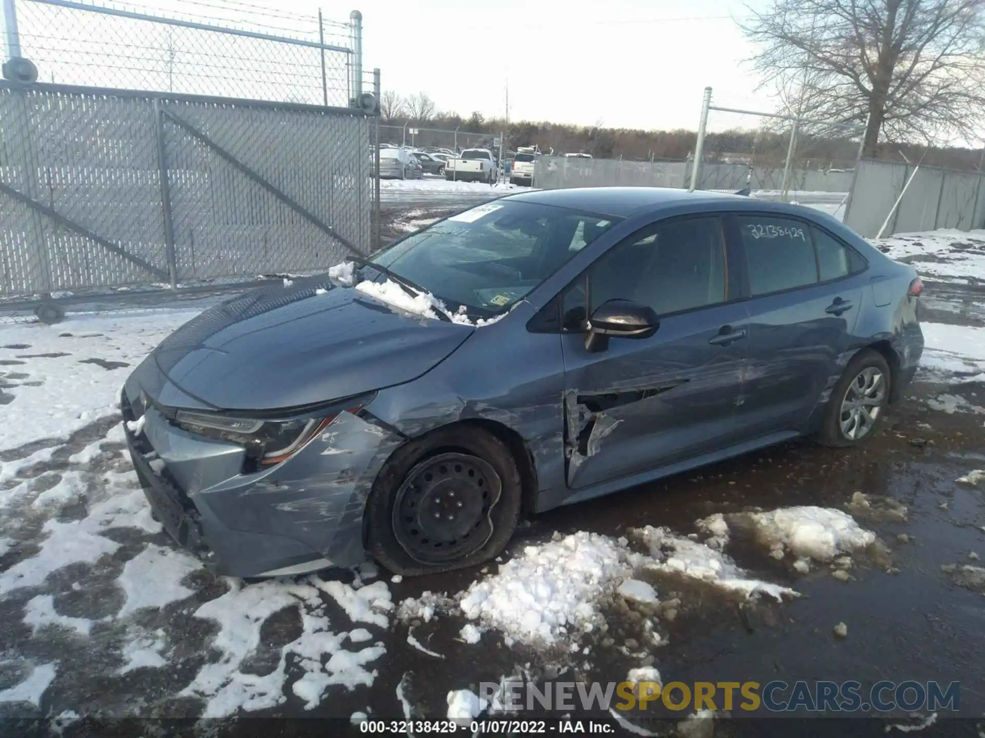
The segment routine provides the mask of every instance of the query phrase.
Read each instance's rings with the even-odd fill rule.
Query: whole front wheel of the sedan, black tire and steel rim
[[[499,439],[438,429],[383,466],[366,503],[366,548],[403,576],[477,566],[505,547],[521,500],[516,463]]]

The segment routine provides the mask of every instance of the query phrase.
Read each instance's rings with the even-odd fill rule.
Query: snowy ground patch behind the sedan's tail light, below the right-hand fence
[[[873,243],[890,259],[913,264],[921,275],[938,281],[985,279],[985,230],[942,228]]]

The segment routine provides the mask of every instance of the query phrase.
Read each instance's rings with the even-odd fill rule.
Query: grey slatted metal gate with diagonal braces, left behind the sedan
[[[0,298],[314,272],[365,253],[372,120],[0,82]]]

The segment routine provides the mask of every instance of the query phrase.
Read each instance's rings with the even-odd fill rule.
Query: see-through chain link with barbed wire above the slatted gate
[[[14,0],[14,9],[18,55],[42,83],[342,107],[353,96],[357,18],[339,23],[229,0],[166,10]]]

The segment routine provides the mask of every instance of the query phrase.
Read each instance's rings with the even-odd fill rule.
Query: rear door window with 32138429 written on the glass
[[[738,220],[754,295],[817,283],[810,226],[770,215],[738,215]]]

